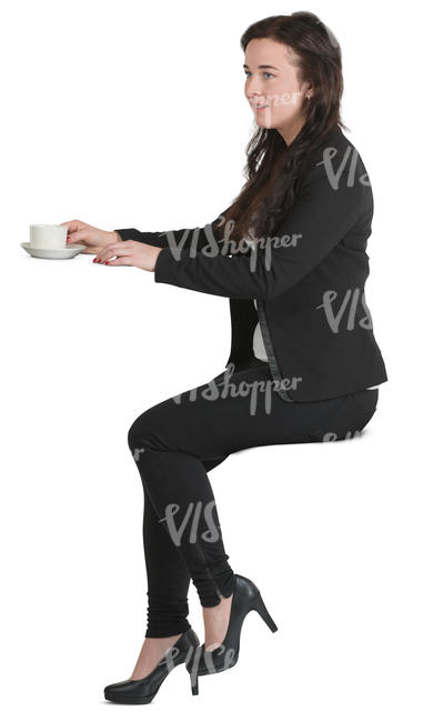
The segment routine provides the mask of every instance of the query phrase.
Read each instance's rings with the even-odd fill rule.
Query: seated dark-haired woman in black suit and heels
[[[197,693],[198,675],[236,662],[251,610],[276,630],[258,586],[228,563],[208,472],[240,449],[360,433],[387,380],[364,294],[373,195],[341,130],[340,47],[309,12],[255,22],[241,46],[256,131],[248,180],[224,214],[169,232],[67,223],[94,262],[230,299],[225,371],[129,430],[144,490],[149,606],[132,675],[104,690],[118,702],[150,702],[182,662]],[[202,645],[187,620],[191,579]]]

